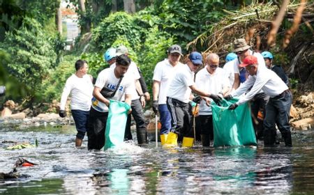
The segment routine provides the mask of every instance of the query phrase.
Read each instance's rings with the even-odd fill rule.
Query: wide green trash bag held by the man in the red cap
[[[234,110],[228,109],[237,101],[236,98],[230,101],[223,99],[221,106],[211,102],[214,147],[257,145],[248,103],[241,104]]]

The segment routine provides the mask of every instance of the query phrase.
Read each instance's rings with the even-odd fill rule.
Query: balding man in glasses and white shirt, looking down
[[[196,74],[195,86],[206,93],[221,97],[230,90],[230,83],[225,70],[219,68],[219,56],[217,54],[207,56],[206,66]],[[198,112],[203,146],[210,146],[210,140],[214,139],[211,101],[211,98],[202,97]]]

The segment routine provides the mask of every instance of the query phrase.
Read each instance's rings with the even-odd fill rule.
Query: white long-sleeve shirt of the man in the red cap
[[[237,102],[238,105],[251,100],[261,89],[270,98],[274,98],[288,89],[287,85],[274,71],[258,66],[256,75],[248,76],[248,79],[236,91],[232,92],[231,95],[237,97],[245,93],[251,86],[253,86],[251,91],[239,99]]]

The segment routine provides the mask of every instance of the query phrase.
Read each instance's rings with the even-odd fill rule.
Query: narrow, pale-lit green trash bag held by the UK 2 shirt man
[[[109,114],[105,130],[105,147],[114,148],[124,142],[124,131],[130,105],[126,102],[110,100]]]

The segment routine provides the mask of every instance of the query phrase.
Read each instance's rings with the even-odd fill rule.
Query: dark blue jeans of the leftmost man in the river
[[[89,111],[71,110],[71,113],[77,130],[76,137],[78,139],[84,139],[89,123]]]

